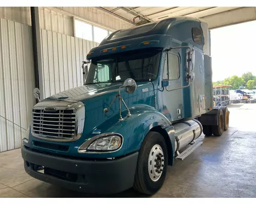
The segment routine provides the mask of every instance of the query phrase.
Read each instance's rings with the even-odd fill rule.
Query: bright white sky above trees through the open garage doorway
[[[212,81],[256,75],[256,21],[211,30]]]

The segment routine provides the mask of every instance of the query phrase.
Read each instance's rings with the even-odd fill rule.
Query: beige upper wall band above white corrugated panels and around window
[[[97,7],[39,7],[40,28],[74,36],[74,15],[112,30],[133,27]],[[31,25],[30,7],[0,7],[0,18]]]

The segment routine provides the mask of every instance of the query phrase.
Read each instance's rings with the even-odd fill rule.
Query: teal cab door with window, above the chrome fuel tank
[[[170,120],[176,121],[184,118],[183,91],[176,89],[182,87],[181,59],[178,52],[171,50],[166,52],[163,67],[163,81],[169,85],[163,88],[163,114]]]

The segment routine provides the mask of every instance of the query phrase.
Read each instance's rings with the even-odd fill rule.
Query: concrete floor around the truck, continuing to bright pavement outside
[[[163,187],[152,197],[256,197],[256,104],[231,105],[229,110],[230,129],[221,137],[202,135],[202,146],[168,167]],[[0,197],[95,195],[33,179],[25,173],[20,149],[15,149],[0,154]],[[147,196],[130,189],[109,197]]]

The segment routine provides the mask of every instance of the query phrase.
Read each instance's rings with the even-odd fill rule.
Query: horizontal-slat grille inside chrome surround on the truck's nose
[[[64,107],[63,107],[64,108]],[[74,109],[47,111],[33,109],[32,133],[59,139],[72,139],[75,136],[76,113]]]

